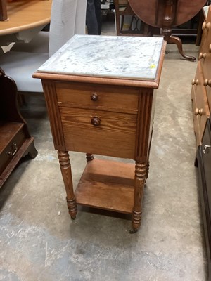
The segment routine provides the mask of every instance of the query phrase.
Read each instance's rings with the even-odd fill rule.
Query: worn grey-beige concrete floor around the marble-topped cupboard
[[[198,47],[184,45],[189,55]],[[111,50],[112,51],[112,50]],[[167,46],[155,109],[151,168],[141,228],[126,216],[79,207],[70,220],[42,94],[21,112],[39,154],[0,190],[0,280],[205,281],[207,260],[193,162],[191,80],[197,63]],[[75,185],[85,156],[70,152]]]

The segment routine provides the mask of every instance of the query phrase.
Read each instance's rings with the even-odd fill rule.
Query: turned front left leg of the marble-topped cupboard
[[[77,214],[77,206],[75,195],[73,192],[72,185],[72,172],[70,166],[70,158],[68,151],[58,151],[58,159],[60,163],[60,171],[63,176],[63,181],[65,184],[65,190],[67,194],[68,211],[72,219],[75,219]]]

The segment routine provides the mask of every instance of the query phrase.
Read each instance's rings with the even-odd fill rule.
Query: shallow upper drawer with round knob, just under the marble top
[[[56,82],[56,93],[63,106],[134,113],[138,110],[138,88]]]

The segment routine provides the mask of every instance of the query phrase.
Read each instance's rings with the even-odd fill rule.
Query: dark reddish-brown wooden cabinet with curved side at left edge
[[[21,157],[29,154],[34,158],[34,138],[18,110],[17,87],[0,68],[0,188],[11,174]]]

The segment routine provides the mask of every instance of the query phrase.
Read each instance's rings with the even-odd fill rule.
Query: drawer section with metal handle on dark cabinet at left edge
[[[13,122],[0,124],[0,135],[2,137],[0,143],[1,174],[25,141],[23,124]]]

